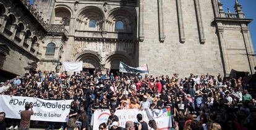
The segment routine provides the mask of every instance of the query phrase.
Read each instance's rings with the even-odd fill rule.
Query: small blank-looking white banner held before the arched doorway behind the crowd
[[[83,62],[63,62],[64,71],[82,71]]]

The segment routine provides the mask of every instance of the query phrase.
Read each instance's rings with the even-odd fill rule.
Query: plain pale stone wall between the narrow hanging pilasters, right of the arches
[[[163,43],[159,40],[157,1],[144,1],[145,39],[139,43],[139,63],[148,63],[152,74],[171,75],[180,73],[205,74],[223,73],[218,37],[211,1],[200,1],[205,43],[200,44],[194,1],[181,1],[184,21],[185,43],[179,40],[176,1],[163,1],[164,33]]]

